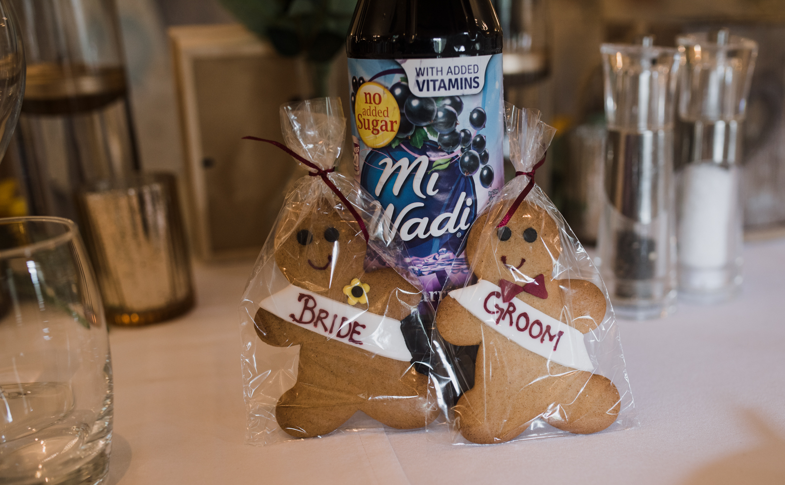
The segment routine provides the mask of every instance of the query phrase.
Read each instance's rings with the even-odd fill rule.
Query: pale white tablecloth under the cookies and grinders
[[[484,447],[425,432],[245,444],[239,298],[251,262],[195,268],[197,308],[111,329],[108,483],[785,483],[785,239],[749,243],[743,294],[620,321],[640,425]]]

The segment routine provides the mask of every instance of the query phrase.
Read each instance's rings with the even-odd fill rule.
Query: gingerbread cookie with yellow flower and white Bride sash
[[[301,346],[297,382],[276,405],[291,436],[327,434],[357,410],[400,429],[438,414],[407,328],[422,294],[392,268],[364,272],[366,251],[356,222],[327,200],[276,245],[290,284],[261,301],[254,324],[269,345]]]

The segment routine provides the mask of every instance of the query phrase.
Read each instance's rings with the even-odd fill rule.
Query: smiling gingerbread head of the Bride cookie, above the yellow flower
[[[366,250],[360,226],[320,199],[276,245],[275,257],[289,283],[323,292],[362,275]]]

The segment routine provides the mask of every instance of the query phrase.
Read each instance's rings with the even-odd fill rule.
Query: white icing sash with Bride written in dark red
[[[316,334],[374,352],[390,359],[411,361],[400,321],[313,294],[289,285],[259,304],[279,318]]]

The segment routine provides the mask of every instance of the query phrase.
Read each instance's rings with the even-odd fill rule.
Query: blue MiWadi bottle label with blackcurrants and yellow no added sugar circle
[[[355,175],[437,304],[469,278],[466,233],[504,185],[502,55],[349,59],[349,83]]]

